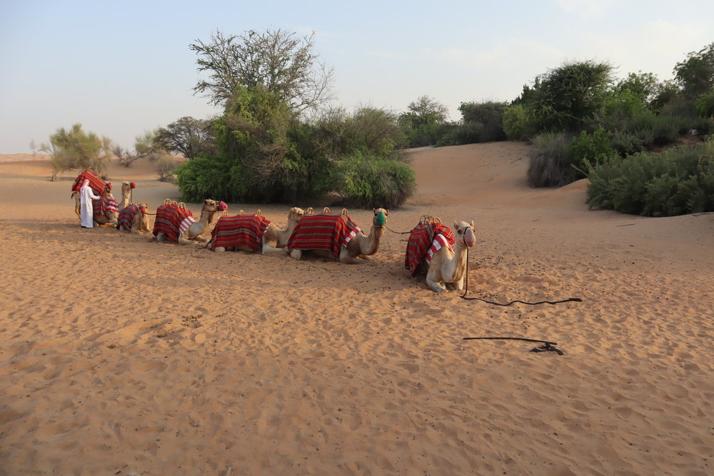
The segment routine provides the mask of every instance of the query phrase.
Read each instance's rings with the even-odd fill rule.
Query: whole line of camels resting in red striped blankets
[[[159,243],[200,244],[216,252],[245,251],[269,253],[284,250],[286,255],[300,260],[306,253],[330,258],[338,263],[356,264],[368,259],[379,250],[386,228],[389,211],[373,208],[372,225],[365,235],[349,217],[346,208],[332,213],[324,208],[314,213],[313,208],[303,211],[293,207],[288,211],[286,228],[278,228],[263,213],[228,216],[228,206],[223,201],[206,199],[201,215],[196,220],[185,203],[166,199],[149,213],[146,203],[131,203],[134,183],[122,182],[121,203],[111,195],[111,183],[87,169],[77,176],[71,197],[75,199],[75,213],[79,217],[79,188],[84,179],[98,196],[93,200],[94,226],[115,226],[119,231],[135,234],[151,233],[151,240]],[[149,215],[155,215],[154,226],[149,226]],[[211,224],[211,238],[204,238]],[[426,284],[436,293],[445,290],[463,290],[468,264],[468,248],[476,245],[473,221],[454,222],[453,232],[441,220],[422,216],[410,231],[406,247],[404,268],[412,275],[426,274]],[[456,233],[456,238],[454,238]]]

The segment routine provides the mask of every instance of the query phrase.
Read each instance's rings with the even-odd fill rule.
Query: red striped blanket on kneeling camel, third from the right
[[[218,246],[230,248],[247,246],[253,253],[263,252],[263,235],[268,231],[270,220],[262,215],[236,215],[218,218],[211,231],[211,250]]]

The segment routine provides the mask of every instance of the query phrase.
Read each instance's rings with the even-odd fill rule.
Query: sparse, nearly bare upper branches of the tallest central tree
[[[239,87],[261,86],[298,113],[328,101],[333,70],[313,53],[315,34],[299,37],[285,30],[247,31],[242,35],[211,35],[196,40],[198,71],[208,72],[193,88],[214,105],[225,106]]]

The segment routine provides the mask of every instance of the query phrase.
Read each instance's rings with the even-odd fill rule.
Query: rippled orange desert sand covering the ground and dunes
[[[345,265],[81,229],[76,172],[1,156],[0,474],[714,474],[714,214],[591,211],[528,188],[528,151],[415,149],[387,226],[473,219],[467,296],[582,302],[434,293],[391,231]]]

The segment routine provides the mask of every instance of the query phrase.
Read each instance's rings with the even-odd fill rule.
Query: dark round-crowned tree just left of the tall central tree
[[[156,143],[161,148],[191,159],[200,153],[216,153],[213,121],[190,116],[182,117],[156,131]]]

